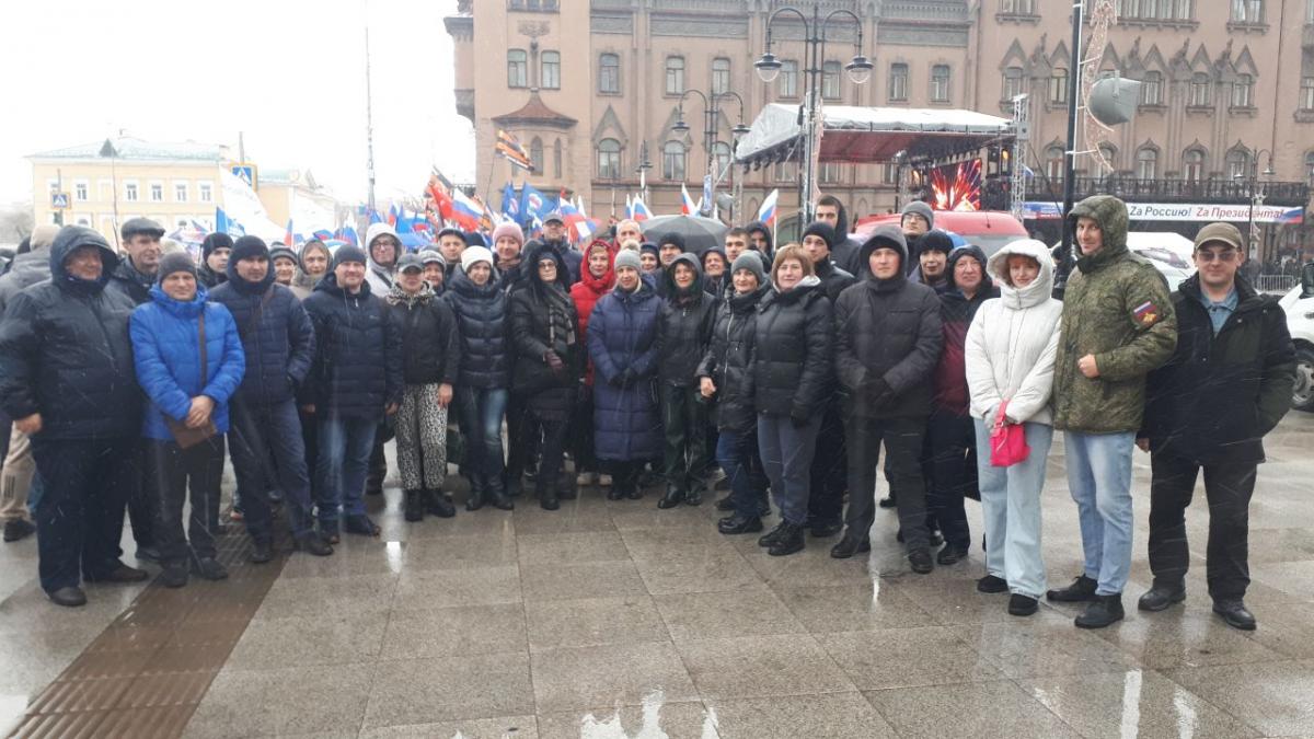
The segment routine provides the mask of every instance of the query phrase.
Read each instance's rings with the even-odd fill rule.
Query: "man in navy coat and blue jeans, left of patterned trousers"
[[[402,342],[388,304],[369,292],[365,252],[339,246],[334,270],[302,302],[315,330],[315,358],[300,393],[319,423],[319,534],[338,540],[338,509],[346,531],[377,536],[365,515],[365,475],[374,429],[402,400]]]

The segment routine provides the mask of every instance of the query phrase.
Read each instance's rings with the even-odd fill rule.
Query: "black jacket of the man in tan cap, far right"
[[[1277,300],[1236,276],[1236,310],[1214,334],[1192,275],[1172,302],[1177,347],[1150,373],[1138,435],[1150,450],[1197,464],[1264,462],[1263,437],[1292,405],[1296,347]]]

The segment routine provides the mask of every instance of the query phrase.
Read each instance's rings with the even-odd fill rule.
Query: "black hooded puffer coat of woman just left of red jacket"
[[[536,266],[547,256],[557,262],[556,281],[544,283],[537,270],[527,270],[523,284],[511,292],[511,346],[515,350],[511,388],[518,393],[574,388],[582,381],[582,337],[570,300],[565,259],[556,249],[539,245],[520,264]],[[549,351],[561,359],[560,371],[548,366]]]

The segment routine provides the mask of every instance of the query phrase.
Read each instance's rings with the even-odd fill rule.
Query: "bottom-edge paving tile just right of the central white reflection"
[[[896,736],[862,693],[707,701],[720,739],[884,739]],[[946,732],[949,734],[949,732]],[[943,736],[943,734],[942,734]]]

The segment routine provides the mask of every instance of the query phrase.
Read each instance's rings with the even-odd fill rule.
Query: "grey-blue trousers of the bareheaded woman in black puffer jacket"
[[[816,452],[821,413],[813,413],[803,427],[788,416],[757,417],[757,447],[762,468],[771,480],[771,494],[786,522],[807,526],[808,496],[812,489],[812,455]]]

